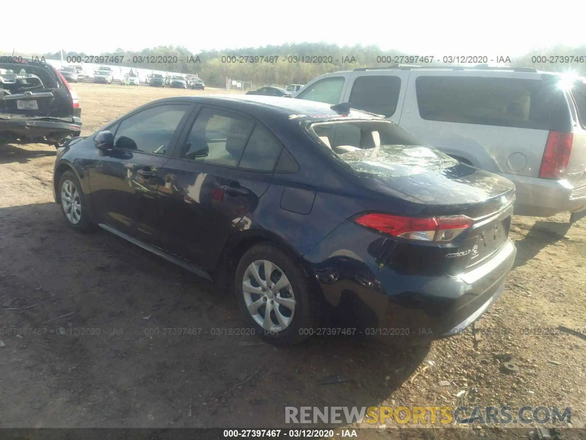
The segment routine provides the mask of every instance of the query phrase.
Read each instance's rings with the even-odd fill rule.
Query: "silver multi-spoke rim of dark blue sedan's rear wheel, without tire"
[[[287,329],[295,313],[295,295],[283,271],[269,260],[256,260],[244,272],[244,303],[248,313],[271,333]]]

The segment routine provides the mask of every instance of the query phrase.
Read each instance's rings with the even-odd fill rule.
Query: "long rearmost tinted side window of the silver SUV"
[[[488,126],[569,131],[570,110],[555,80],[420,76],[422,119]]]

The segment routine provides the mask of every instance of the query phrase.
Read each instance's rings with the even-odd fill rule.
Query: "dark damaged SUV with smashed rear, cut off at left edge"
[[[53,66],[0,55],[0,144],[62,144],[81,133],[77,94]]]

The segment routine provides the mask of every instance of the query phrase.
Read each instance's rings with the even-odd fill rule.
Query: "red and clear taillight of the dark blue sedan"
[[[434,242],[452,241],[473,223],[465,215],[419,218],[390,214],[366,214],[355,222],[394,237]]]

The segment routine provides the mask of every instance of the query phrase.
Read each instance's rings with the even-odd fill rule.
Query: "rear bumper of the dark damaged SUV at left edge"
[[[35,143],[47,140],[57,142],[66,136],[79,136],[81,119],[67,121],[43,121],[34,119],[0,120],[0,140],[6,142]]]

